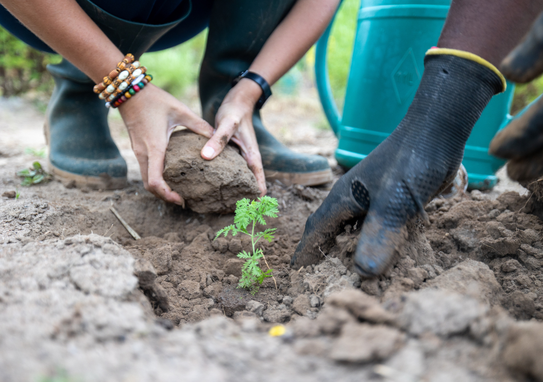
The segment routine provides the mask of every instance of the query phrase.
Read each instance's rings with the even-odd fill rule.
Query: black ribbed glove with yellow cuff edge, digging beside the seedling
[[[365,220],[355,254],[363,276],[383,273],[407,238],[406,223],[456,176],[464,145],[505,80],[487,61],[452,49],[431,49],[415,98],[390,136],[333,186],[306,222],[291,265],[319,260],[320,248],[346,221]]]

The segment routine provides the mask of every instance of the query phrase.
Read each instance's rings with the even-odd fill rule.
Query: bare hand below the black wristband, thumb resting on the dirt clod
[[[242,79],[226,94],[215,116],[216,132],[201,150],[204,159],[211,160],[223,151],[228,141],[239,146],[249,169],[255,174],[261,196],[266,195],[266,178],[262,158],[252,126],[252,112],[262,89],[252,80]],[[187,126],[188,127],[188,126]],[[204,135],[204,134],[203,134]],[[207,136],[207,135],[206,135]]]

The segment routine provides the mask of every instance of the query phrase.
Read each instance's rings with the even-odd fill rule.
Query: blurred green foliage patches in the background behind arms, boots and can
[[[357,25],[359,0],[344,0],[336,16],[328,47],[330,84],[338,106],[342,108],[349,75],[351,54]],[[146,53],[141,61],[154,75],[153,83],[175,96],[197,86],[207,30],[192,40],[171,49]],[[0,27],[0,95],[9,97],[28,90],[50,93],[53,80],[45,69],[60,56],[44,54],[28,47]],[[314,47],[274,86],[279,94],[298,93],[300,86],[314,81]],[[516,113],[543,93],[543,78],[517,86],[512,112]]]

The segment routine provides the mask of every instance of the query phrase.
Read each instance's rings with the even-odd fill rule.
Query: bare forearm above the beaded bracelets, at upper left
[[[0,3],[96,83],[124,57],[75,0],[0,0]]]

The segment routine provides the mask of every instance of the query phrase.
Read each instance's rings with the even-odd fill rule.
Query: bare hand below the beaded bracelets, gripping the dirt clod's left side
[[[167,202],[185,206],[185,200],[162,178],[169,138],[176,126],[211,138],[213,127],[173,95],[150,83],[119,106],[119,112],[140,164],[145,189]]]

